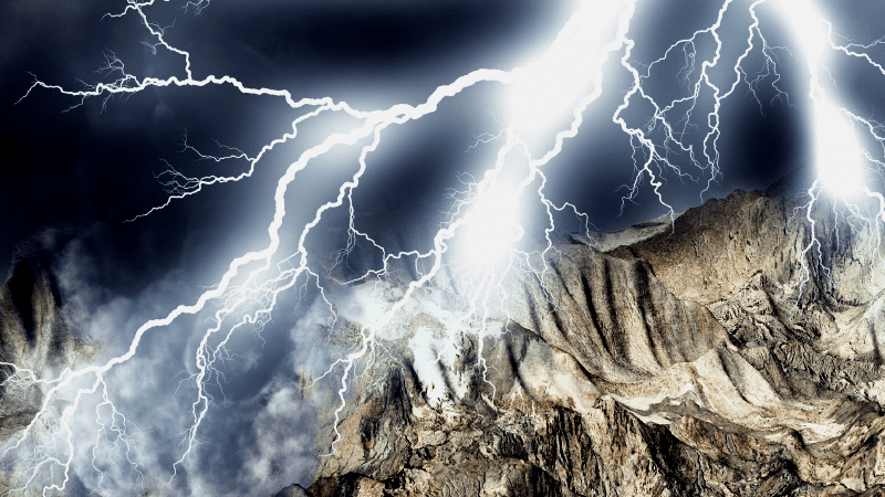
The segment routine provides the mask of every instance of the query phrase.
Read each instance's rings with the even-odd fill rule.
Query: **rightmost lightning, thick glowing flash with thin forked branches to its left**
[[[793,51],[785,46],[777,46],[769,43],[761,28],[758,9],[768,0],[756,0],[747,8],[752,22],[748,27],[748,35],[745,49],[729,65],[733,74],[730,83],[719,85],[715,83],[714,70],[723,61],[722,40],[719,30],[722,19],[732,6],[731,0],[722,3],[718,11],[716,21],[706,29],[698,30],[691,36],[685,38],[670,45],[665,53],[649,64],[636,64],[631,62],[631,52],[634,43],[627,44],[627,50],[622,57],[622,65],[633,75],[633,85],[624,95],[623,104],[615,113],[613,120],[621,126],[622,130],[629,135],[631,144],[634,148],[633,160],[634,182],[625,186],[627,194],[622,200],[622,211],[624,202],[632,201],[643,183],[644,177],[648,177],[648,182],[653,187],[655,194],[662,204],[667,207],[673,219],[673,209],[666,203],[660,192],[664,181],[660,177],[664,171],[676,173],[677,177],[688,177],[696,180],[693,175],[686,172],[686,166],[699,169],[707,176],[707,187],[701,191],[702,195],[709,190],[712,182],[721,177],[720,152],[718,141],[721,136],[720,130],[720,109],[722,103],[735,94],[738,86],[743,83],[747,91],[759,105],[760,113],[764,113],[762,102],[759,97],[759,85],[763,81],[769,81],[774,96],[769,101],[773,104],[780,101],[790,106],[794,104],[789,95],[781,87],[782,76],[779,72],[778,52],[793,56]],[[879,254],[882,246],[882,226],[885,221],[885,203],[882,193],[871,189],[867,182],[872,180],[868,172],[882,177],[882,167],[885,162],[881,158],[885,152],[885,136],[882,135],[882,124],[870,118],[864,118],[848,108],[841,106],[830,92],[824,88],[824,81],[832,81],[832,74],[825,65],[827,52],[842,53],[850,57],[856,57],[865,62],[870,67],[885,75],[885,67],[874,61],[870,54],[864,52],[883,43],[883,39],[877,39],[871,43],[842,43],[844,36],[833,31],[832,23],[818,13],[816,8],[808,0],[773,0],[779,9],[782,19],[788,23],[792,38],[799,44],[801,52],[806,60],[809,75],[809,99],[812,109],[809,113],[809,120],[814,128],[813,141],[815,144],[814,160],[816,162],[816,180],[809,188],[808,202],[803,211],[809,226],[809,243],[801,251],[799,265],[804,274],[796,292],[796,305],[799,305],[804,289],[811,283],[813,267],[816,266],[824,277],[831,277],[830,268],[824,264],[824,251],[819,239],[818,221],[815,220],[815,205],[820,198],[826,194],[833,201],[835,215],[851,218],[860,221],[872,232],[874,236],[870,239],[871,250],[874,254]],[[700,63],[697,71],[697,45],[702,42],[702,38],[711,38],[715,44],[715,52],[711,59]],[[751,53],[757,52],[762,57],[762,67],[749,71],[746,66],[749,63]],[[674,98],[668,102],[658,102],[652,93],[644,87],[645,83],[655,77],[656,67],[663,65],[670,57],[681,55],[685,65],[677,74],[677,78],[691,91],[685,96]],[[644,71],[636,66],[643,65]],[[721,77],[721,76],[719,76]],[[833,86],[835,83],[833,82]],[[706,119],[698,121],[695,114],[701,113],[702,105],[700,98],[709,95],[712,98],[712,106],[706,112]],[[631,126],[624,114],[637,102],[649,105],[653,112],[648,116],[643,127]],[[693,130],[702,129],[706,133],[700,141],[700,150],[696,149],[697,144],[689,142],[696,133]],[[873,152],[861,145],[858,133],[865,135],[870,142],[876,144],[878,152]],[[865,178],[866,176],[866,178]],[[876,208],[864,207],[857,202],[858,195],[871,199]],[[870,213],[872,210],[872,213]],[[878,255],[878,260],[882,255]],[[871,260],[870,275],[875,274],[876,257]]]

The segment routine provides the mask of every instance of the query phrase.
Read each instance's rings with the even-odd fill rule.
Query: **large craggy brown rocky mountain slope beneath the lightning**
[[[801,193],[739,191],[606,254],[560,244],[504,283],[506,332],[454,358],[385,342],[335,455],[281,495],[885,495],[875,229],[821,203],[818,264]]]

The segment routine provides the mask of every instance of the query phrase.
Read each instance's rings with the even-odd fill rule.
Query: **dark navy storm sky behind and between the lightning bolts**
[[[673,2],[676,8],[660,8],[658,2],[641,2],[631,31],[637,39],[634,59],[648,62],[666,44],[711,22],[716,11],[699,9],[705,3],[680,0]],[[184,133],[208,151],[214,151],[212,140],[219,140],[253,154],[288,129],[287,119],[294,116],[279,102],[239,96],[227,88],[149,89],[128,99],[114,98],[103,113],[97,99],[62,113],[75,101],[39,89],[12,105],[31,83],[29,73],[72,89],[81,87],[77,78],[102,81],[95,70],[104,50],[118,54],[135,74],[181,74],[180,57],[162,51],[153,55],[139,44],[147,34],[136,18],[102,20],[104,12],[123,4],[61,0],[2,4],[0,264],[4,266],[17,243],[48,226],[61,239],[63,233],[82,236],[88,231],[95,233],[87,237],[93,250],[114,267],[107,277],[123,287],[138,287],[138,282],[169,267],[187,267],[194,257],[205,261],[195,254],[206,251],[218,254],[210,257],[217,264],[222,255],[236,255],[241,248],[225,240],[263,231],[249,224],[270,213],[266,200],[275,180],[270,172],[236,187],[215,187],[146,220],[122,221],[164,200],[153,178],[164,168],[160,159],[192,175],[244,167],[231,162],[210,170],[192,155],[178,154]],[[552,40],[573,8],[574,2],[568,1],[215,1],[196,18],[181,12],[180,6],[169,6],[156,9],[154,19],[164,25],[175,22],[169,41],[191,52],[196,77],[230,74],[248,85],[290,89],[296,97],[331,95],[358,108],[382,108],[418,103],[437,85],[475,68],[525,63]],[[741,32],[743,21],[736,17]],[[626,139],[611,124],[611,114],[629,81],[616,65],[608,67],[606,95],[590,109],[582,135],[551,167],[550,188],[555,200],[577,204],[597,226],[617,229],[662,212],[645,188],[642,205],[618,216],[623,191],[616,189],[631,181],[632,163]],[[658,84],[666,88],[674,82],[662,78]],[[795,167],[801,155],[803,131],[795,108],[766,105],[763,117],[745,94],[746,88],[739,88],[723,109],[725,177],[716,188],[718,195],[735,188],[764,187]],[[371,197],[384,199],[372,202],[392,209],[408,208],[414,199],[434,203],[445,187],[457,184],[456,173],[466,169],[462,162],[483,154],[464,154],[472,137],[500,128],[496,116],[475,112],[482,98],[468,96],[465,103],[444,108],[448,115],[434,117],[435,123],[392,134],[391,140],[404,140],[402,152],[385,158],[388,163],[377,175],[379,181],[365,188]],[[284,158],[273,159],[284,163]],[[671,183],[668,200],[677,209],[698,202],[696,184],[677,188],[675,178]]]

